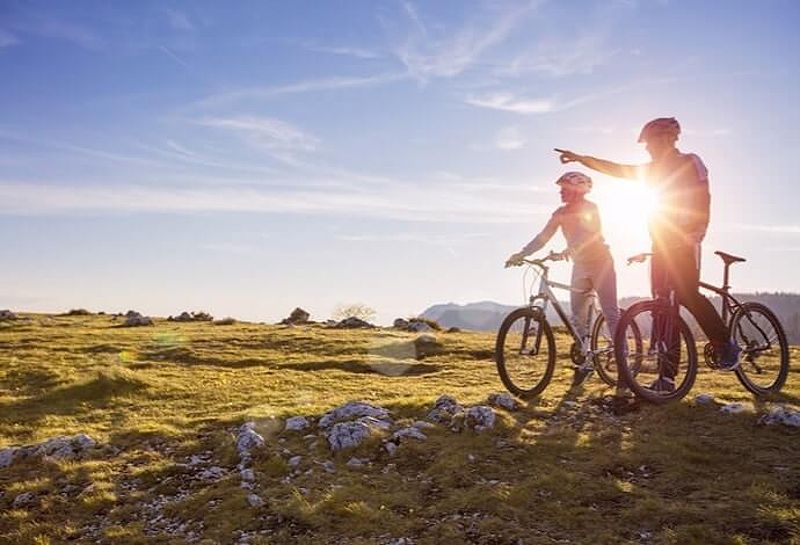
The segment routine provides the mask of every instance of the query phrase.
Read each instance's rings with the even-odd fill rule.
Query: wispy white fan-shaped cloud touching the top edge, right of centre
[[[440,28],[438,35],[433,36],[416,7],[405,2],[404,11],[413,28],[394,48],[394,53],[420,82],[457,76],[493,46],[504,42],[539,3],[527,2],[499,15],[481,13],[456,31]]]

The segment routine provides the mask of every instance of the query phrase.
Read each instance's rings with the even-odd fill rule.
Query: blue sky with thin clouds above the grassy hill
[[[703,276],[724,249],[742,291],[800,291],[798,23],[792,0],[7,0],[0,307],[522,302],[502,264],[559,204],[551,149],[644,162],[660,116],[710,171]],[[619,291],[646,293],[621,263],[641,197],[595,180]]]

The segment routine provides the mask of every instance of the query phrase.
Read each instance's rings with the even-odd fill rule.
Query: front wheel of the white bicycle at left
[[[547,388],[555,369],[556,343],[541,311],[520,308],[503,320],[495,362],[500,380],[514,395],[532,398]]]

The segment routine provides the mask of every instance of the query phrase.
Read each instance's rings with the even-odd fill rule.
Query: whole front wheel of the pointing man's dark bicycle
[[[622,313],[614,355],[631,391],[651,403],[683,398],[697,377],[697,347],[689,326],[656,301],[641,301]]]

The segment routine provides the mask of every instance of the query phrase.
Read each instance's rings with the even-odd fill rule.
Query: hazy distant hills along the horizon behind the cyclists
[[[786,330],[786,335],[791,344],[800,344],[800,294],[797,293],[736,293],[734,297],[740,301],[758,301],[767,305],[780,319]],[[627,307],[643,299],[643,297],[624,297],[620,306]],[[719,297],[711,298],[719,308]],[[562,301],[562,305],[569,312],[569,303]],[[445,303],[427,308],[421,316],[436,320],[444,327],[459,327],[474,331],[497,331],[503,318],[517,305],[503,305],[493,301],[480,301],[459,305]],[[548,309],[548,319],[551,323],[558,324],[559,319],[552,308]],[[693,327],[698,337],[699,328]]]

